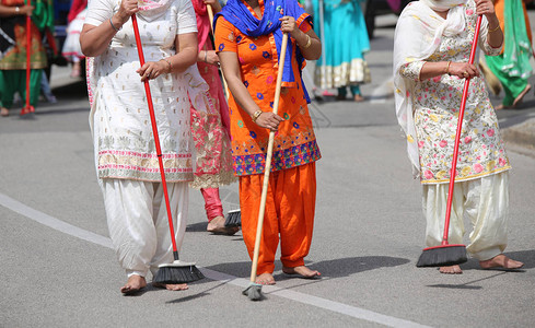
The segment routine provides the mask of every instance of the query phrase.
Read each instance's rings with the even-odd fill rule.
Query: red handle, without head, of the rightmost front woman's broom
[[[479,27],[481,26],[481,17],[482,17],[481,15],[477,17],[476,32],[474,33],[474,42],[472,44],[470,58],[468,61],[470,65],[474,63],[474,59],[476,58],[477,42],[479,39]],[[464,82],[463,97],[461,99],[461,108],[458,109],[457,133],[455,134],[452,169],[450,172],[450,190],[447,191],[446,218],[444,223],[444,236],[442,237],[442,245],[447,245],[447,233],[450,231],[450,215],[452,213],[453,187],[455,184],[455,175],[457,168],[458,143],[461,141],[461,132],[463,130],[464,109],[466,107],[466,98],[468,97],[469,85],[470,85],[470,78],[467,78]]]

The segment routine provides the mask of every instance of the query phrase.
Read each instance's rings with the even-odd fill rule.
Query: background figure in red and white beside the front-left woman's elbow
[[[69,15],[68,27],[62,55],[72,62],[71,78],[79,78],[82,71],[81,60],[84,58],[80,49],[80,32],[82,31],[85,14],[88,12],[88,0],[73,0]]]

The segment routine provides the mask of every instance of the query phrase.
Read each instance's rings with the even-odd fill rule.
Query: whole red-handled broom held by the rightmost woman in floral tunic
[[[476,57],[477,40],[479,38],[479,27],[481,26],[481,15],[477,17],[476,31],[474,33],[474,42],[472,44],[469,63],[474,63]],[[452,169],[450,172],[450,190],[447,191],[447,206],[444,222],[444,235],[440,246],[433,246],[423,248],[420,258],[416,266],[422,267],[449,267],[454,265],[461,265],[467,261],[466,246],[461,244],[451,245],[447,243],[447,234],[450,231],[450,215],[452,211],[453,200],[453,187],[455,184],[455,174],[457,166],[458,143],[461,140],[461,131],[463,130],[463,116],[466,106],[466,98],[468,96],[468,86],[470,85],[470,78],[464,82],[463,97],[461,99],[461,108],[458,109],[457,132],[455,134],[455,145],[453,149]]]

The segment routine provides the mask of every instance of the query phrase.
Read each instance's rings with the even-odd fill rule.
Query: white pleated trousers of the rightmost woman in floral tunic
[[[444,233],[449,184],[423,185],[426,245],[438,246]],[[476,259],[488,260],[505,249],[508,243],[509,173],[455,183],[450,215],[450,244],[463,244],[464,215],[472,222],[466,250]]]

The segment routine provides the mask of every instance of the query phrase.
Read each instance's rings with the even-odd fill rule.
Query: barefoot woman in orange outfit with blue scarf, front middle
[[[319,155],[301,80],[304,59],[321,43],[310,15],[294,0],[229,0],[217,15],[216,47],[229,89],[232,156],[240,178],[245,245],[253,258],[269,130],[277,130],[258,259],[257,283],[274,284],[275,254],[282,271],[319,276],[304,266],[314,223]],[[282,33],[289,33],[279,115],[272,113]]]

